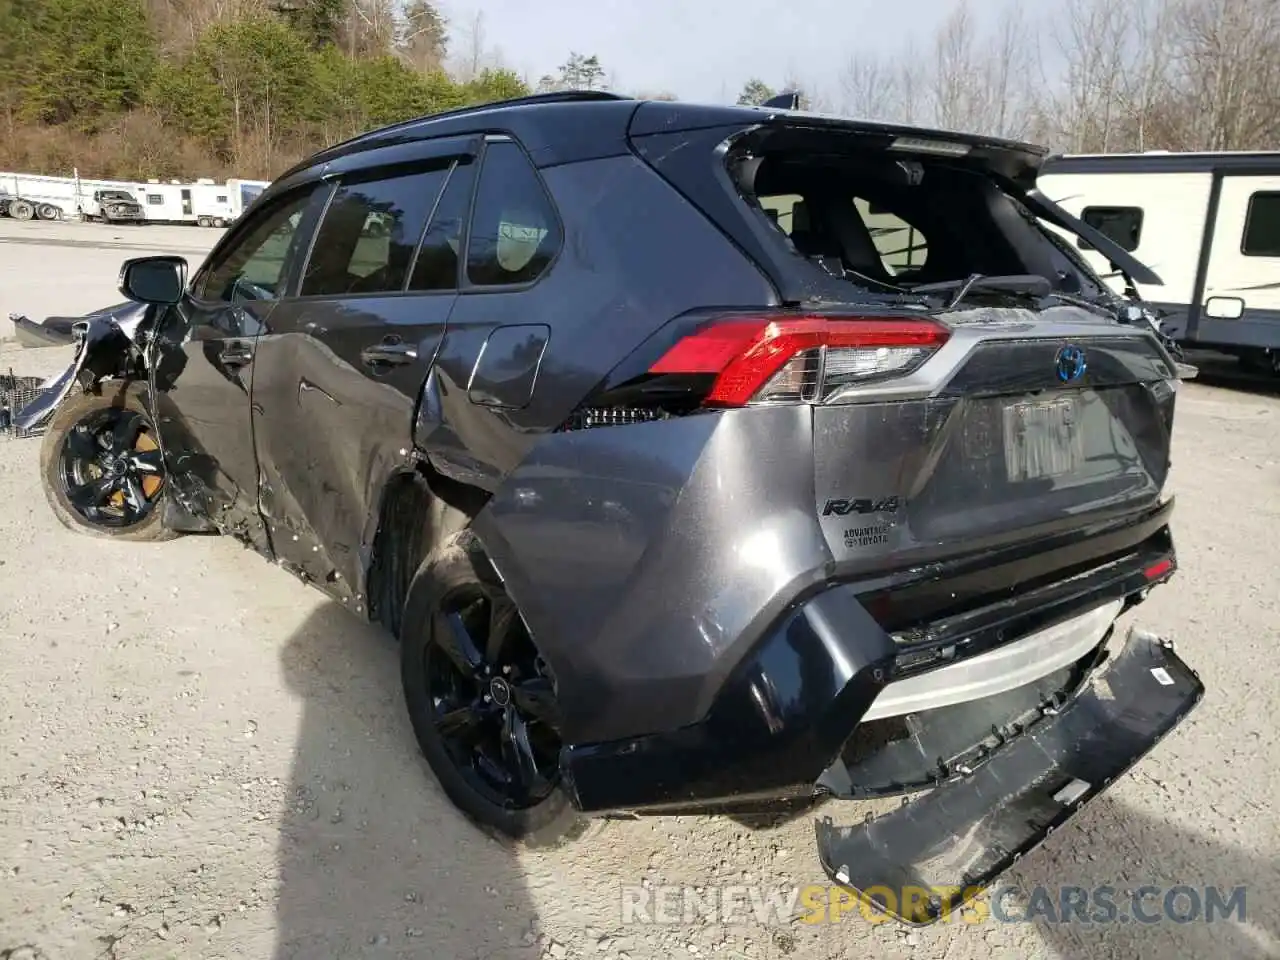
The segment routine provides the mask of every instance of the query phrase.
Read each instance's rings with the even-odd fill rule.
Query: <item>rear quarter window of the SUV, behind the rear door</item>
[[[559,244],[556,211],[525,151],[509,141],[490,143],[471,214],[467,280],[480,287],[530,283]]]

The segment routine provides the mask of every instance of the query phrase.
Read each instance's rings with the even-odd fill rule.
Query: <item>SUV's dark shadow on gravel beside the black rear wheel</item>
[[[419,753],[396,643],[325,604],[280,659],[302,719],[275,960],[536,956],[520,864],[462,819]]]

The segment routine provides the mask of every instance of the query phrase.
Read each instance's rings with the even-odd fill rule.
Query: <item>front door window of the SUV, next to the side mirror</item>
[[[284,275],[284,261],[298,234],[302,214],[314,189],[255,214],[238,242],[220,251],[197,280],[200,300],[275,300]]]

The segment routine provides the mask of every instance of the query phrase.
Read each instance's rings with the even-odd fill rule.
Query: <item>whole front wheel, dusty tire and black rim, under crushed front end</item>
[[[165,468],[155,426],[134,384],[69,397],[45,430],[45,495],[61,524],[115,540],[166,540]]]

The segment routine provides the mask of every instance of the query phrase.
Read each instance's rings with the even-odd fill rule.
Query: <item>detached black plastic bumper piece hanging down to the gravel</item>
[[[1124,774],[1199,703],[1199,677],[1130,631],[1056,714],[980,765],[858,827],[818,820],[828,877],[913,925],[947,916]]]

